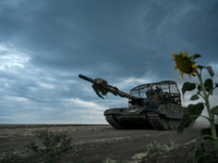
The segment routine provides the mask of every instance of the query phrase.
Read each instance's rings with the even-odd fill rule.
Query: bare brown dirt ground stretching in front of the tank
[[[109,125],[0,125],[1,163],[38,163],[35,153],[25,148],[37,141],[37,130],[65,133],[72,138],[72,150],[63,154],[61,163],[191,163],[189,151],[199,137],[198,128],[175,130],[117,130]],[[149,143],[169,145],[177,149],[146,155]]]

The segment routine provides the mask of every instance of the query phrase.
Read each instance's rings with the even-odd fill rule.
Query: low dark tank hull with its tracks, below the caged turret
[[[105,111],[107,122],[116,129],[177,129],[186,108],[177,104],[116,108]]]

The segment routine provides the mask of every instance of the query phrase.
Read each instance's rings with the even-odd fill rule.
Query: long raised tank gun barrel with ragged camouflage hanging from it
[[[80,74],[78,77],[83,78],[83,79],[85,79],[89,83],[93,83],[93,89],[95,90],[97,96],[102,98],[102,99],[104,99],[102,96],[107,96],[108,92],[111,92],[114,96],[120,96],[120,97],[128,98],[128,99],[131,99],[131,100],[140,100],[141,99],[138,97],[134,97],[130,93],[121,91],[117,87],[108,85],[107,80],[105,80],[105,79],[101,79],[101,78],[93,79],[93,78],[87,77],[87,76],[82,75],[82,74]]]

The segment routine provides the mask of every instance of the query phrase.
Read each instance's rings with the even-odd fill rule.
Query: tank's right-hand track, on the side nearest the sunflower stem
[[[154,112],[147,113],[147,118],[157,130],[177,129],[180,125],[180,120],[160,117],[160,114]]]

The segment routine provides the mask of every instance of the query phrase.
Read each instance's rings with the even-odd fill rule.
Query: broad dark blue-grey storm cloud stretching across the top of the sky
[[[161,51],[213,46],[208,40],[215,45],[216,5],[204,1],[23,2],[12,9],[4,7],[2,21],[7,26],[2,28],[21,47],[34,51],[35,64],[61,68],[97,68],[98,62],[145,66],[149,62],[161,64],[157,60],[157,55],[165,55]]]

